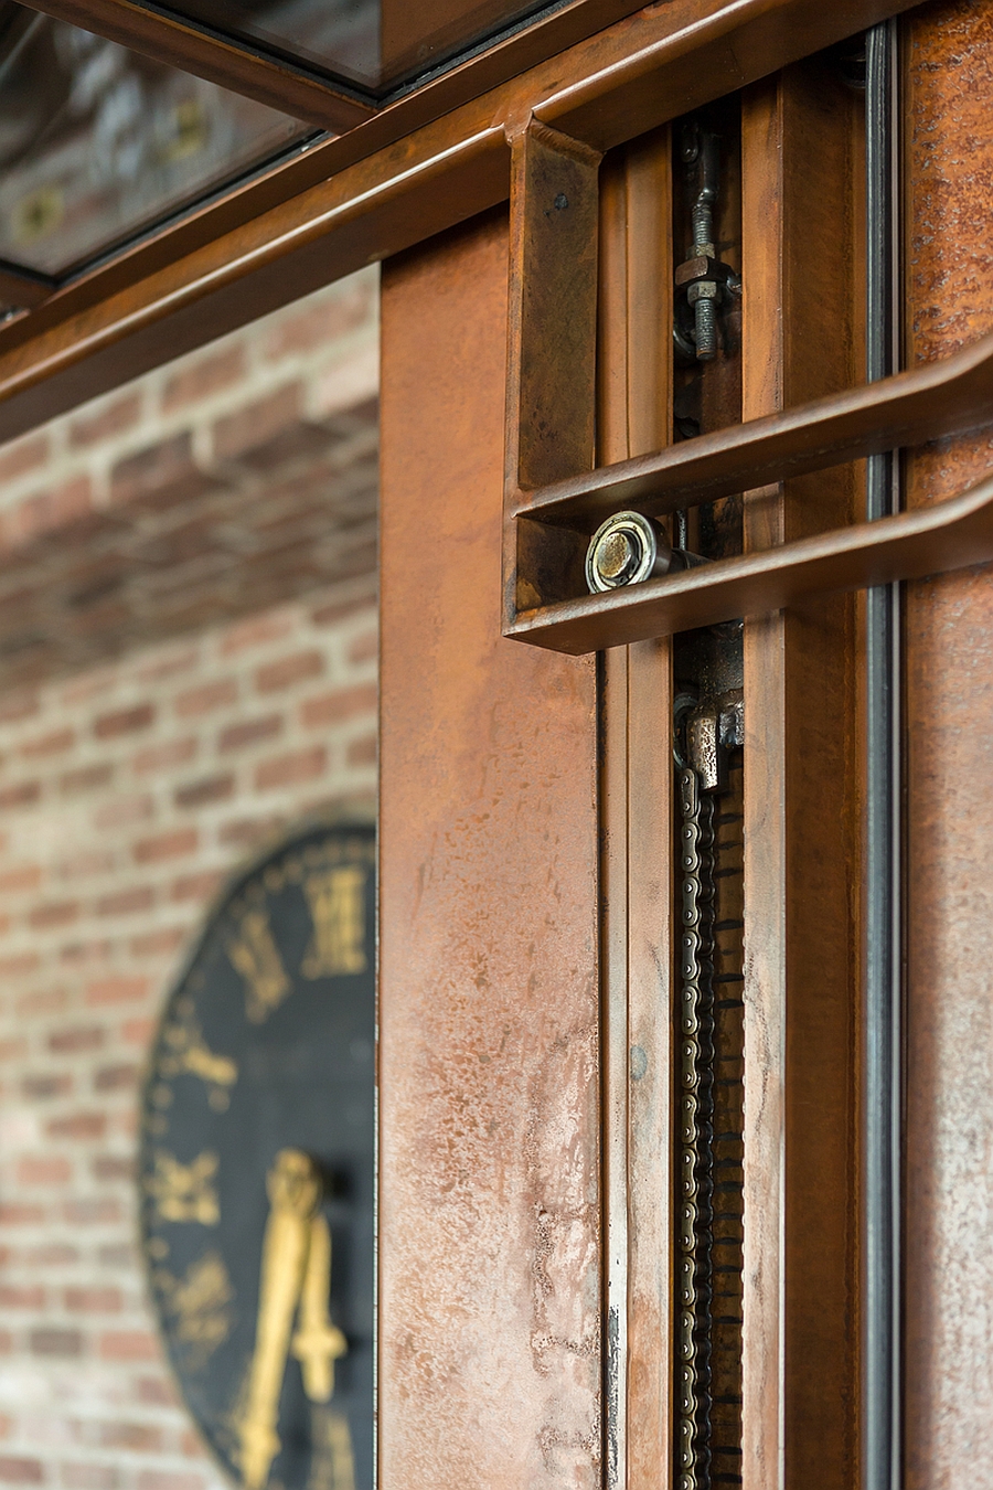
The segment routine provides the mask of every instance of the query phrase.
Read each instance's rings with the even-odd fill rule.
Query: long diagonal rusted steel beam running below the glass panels
[[[603,150],[905,3],[671,0],[453,107],[484,54],[1,329],[0,440],[506,200],[531,115]]]

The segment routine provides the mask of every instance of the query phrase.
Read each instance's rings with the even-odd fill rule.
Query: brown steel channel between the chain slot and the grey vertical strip
[[[744,95],[746,419],[858,381],[856,125],[823,63]],[[746,547],[861,502],[844,468],[747,493]],[[858,1478],[855,621],[822,599],[744,624],[744,1490]]]

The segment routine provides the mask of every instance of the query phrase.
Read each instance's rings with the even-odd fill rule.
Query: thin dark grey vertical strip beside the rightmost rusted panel
[[[899,365],[898,22],[866,34],[866,378]],[[866,516],[899,510],[899,462],[866,462]],[[901,1193],[899,586],[866,595],[863,1490],[898,1490]]]

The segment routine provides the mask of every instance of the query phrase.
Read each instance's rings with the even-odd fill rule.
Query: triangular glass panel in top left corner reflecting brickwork
[[[0,4],[0,258],[61,276],[313,127]]]

